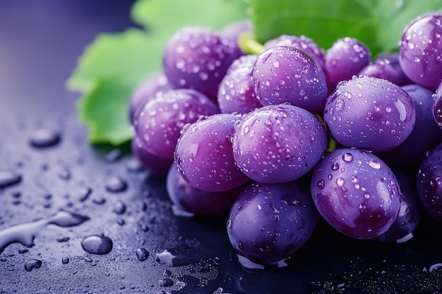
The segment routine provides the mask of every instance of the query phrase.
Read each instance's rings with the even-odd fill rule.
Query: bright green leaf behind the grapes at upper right
[[[372,56],[394,51],[405,25],[421,13],[442,8],[439,0],[248,0],[258,42],[279,35],[305,35],[324,49],[354,37]]]

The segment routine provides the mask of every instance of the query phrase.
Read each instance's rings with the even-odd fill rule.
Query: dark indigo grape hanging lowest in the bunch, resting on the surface
[[[274,264],[297,252],[317,221],[304,180],[251,182],[230,209],[227,234],[239,255],[258,264]]]

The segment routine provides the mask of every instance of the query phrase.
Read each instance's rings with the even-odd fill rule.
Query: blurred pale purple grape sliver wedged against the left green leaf
[[[131,123],[133,124],[135,116],[138,115],[136,112],[139,111],[150,99],[153,99],[157,92],[165,92],[171,89],[172,85],[170,85],[164,73],[155,73],[141,82],[141,84],[133,91],[129,102],[129,118]]]

